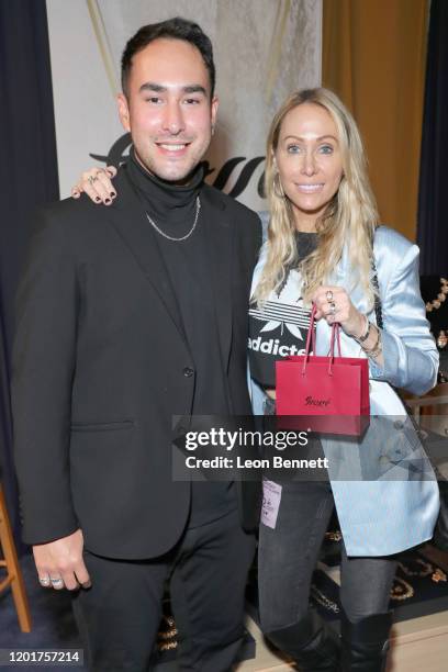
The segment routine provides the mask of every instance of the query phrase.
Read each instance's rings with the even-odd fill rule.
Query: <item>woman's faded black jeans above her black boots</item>
[[[307,612],[311,579],[333,513],[327,482],[283,482],[275,529],[260,525],[258,586],[265,632],[298,623]],[[390,558],[348,558],[344,542],[340,600],[352,623],[388,611],[396,570]]]

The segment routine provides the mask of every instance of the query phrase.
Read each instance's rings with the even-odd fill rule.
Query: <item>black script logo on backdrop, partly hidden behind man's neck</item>
[[[119,166],[126,159],[125,152],[131,146],[131,143],[132,143],[131,133],[125,133],[124,135],[119,137],[119,139],[112,145],[112,147],[109,150],[108,156],[102,156],[99,154],[90,154],[89,156],[91,156],[92,159],[97,161],[101,161],[105,164],[107,166],[109,165]],[[234,172],[239,167],[240,169],[239,175],[236,178],[234,186],[228,191],[228,195],[233,197],[234,199],[237,199],[238,195],[240,195],[243,191],[246,189],[254,172],[256,171],[258,166],[262,164],[264,160],[265,160],[264,156],[256,156],[255,158],[251,158],[251,159],[247,159],[245,156],[236,156],[236,157],[232,157],[227,159],[225,164],[223,164],[221,168],[219,168],[217,170],[216,168],[211,168],[209,161],[202,161],[202,165],[204,166],[205,177],[214,172],[216,173],[212,184],[213,187],[215,187],[216,189],[220,189],[221,191],[223,191],[228,179],[234,176]],[[257,193],[260,197],[260,199],[266,198],[265,189],[264,189],[264,180],[265,180],[265,171],[258,179],[258,183],[257,183]]]

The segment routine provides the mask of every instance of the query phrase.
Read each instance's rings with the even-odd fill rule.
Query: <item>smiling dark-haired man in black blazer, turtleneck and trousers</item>
[[[258,217],[204,184],[210,40],[144,26],[122,59],[133,150],[110,208],[43,210],[18,294],[15,459],[44,586],[74,592],[92,670],[149,669],[170,579],[182,670],[231,669],[257,486],[173,481],[172,416],[250,413]],[[242,486],[244,485],[244,488]]]

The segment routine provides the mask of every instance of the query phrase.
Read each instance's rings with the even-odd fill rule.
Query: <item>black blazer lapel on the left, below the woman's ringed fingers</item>
[[[121,169],[115,181],[117,198],[110,205],[111,222],[133,255],[142,272],[165,304],[183,340],[182,318],[167,268],[157,246],[154,232],[146,219],[146,213],[131,184],[125,167]]]

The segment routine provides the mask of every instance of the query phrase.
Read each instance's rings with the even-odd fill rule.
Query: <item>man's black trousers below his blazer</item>
[[[74,612],[92,672],[147,672],[170,581],[182,672],[228,672],[243,641],[244,593],[255,538],[236,511],[187,529],[167,556],[122,561],[86,553],[92,587]]]

